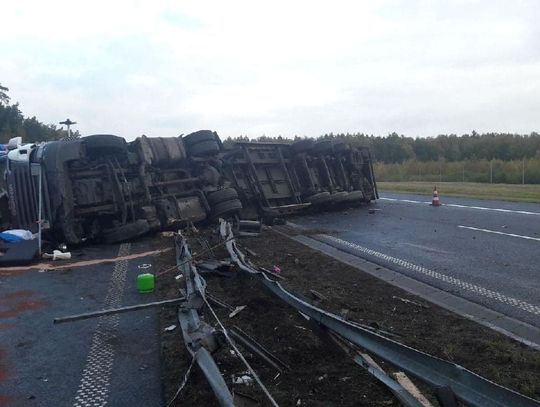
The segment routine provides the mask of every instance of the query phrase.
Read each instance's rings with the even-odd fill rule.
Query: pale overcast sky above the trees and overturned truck
[[[84,135],[540,131],[540,2],[10,1],[0,83]]]

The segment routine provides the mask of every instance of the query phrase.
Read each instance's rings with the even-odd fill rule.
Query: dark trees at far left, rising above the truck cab
[[[0,143],[6,144],[12,137],[22,137],[26,143],[58,140],[67,132],[55,125],[44,124],[35,116],[25,117],[19,103],[10,103],[9,89],[0,83]]]

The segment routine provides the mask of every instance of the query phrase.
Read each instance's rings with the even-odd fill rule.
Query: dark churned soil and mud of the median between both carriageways
[[[219,243],[212,230],[190,232],[187,237],[195,255],[204,250],[201,238],[207,239],[210,245]],[[254,264],[267,269],[278,265],[284,287],[314,304],[352,321],[391,332],[401,343],[461,364],[498,384],[540,399],[540,352],[315,252],[271,228],[258,237],[238,242]],[[161,238],[158,243],[161,247],[172,244],[172,238]],[[214,250],[214,254],[217,259],[227,259],[224,248]],[[210,256],[201,255],[197,261]],[[155,265],[158,275],[159,270],[170,268],[174,262],[172,251],[162,254]],[[245,305],[246,308],[233,318],[229,318],[228,309],[214,307],[214,310],[226,327],[241,328],[290,367],[279,373],[260,357],[240,347],[280,405],[399,405],[384,385],[355,365],[325,332],[296,310],[265,291],[249,276],[234,269],[226,274],[205,274],[207,291],[233,307]],[[174,271],[157,280],[158,295],[162,298],[178,296],[182,287],[183,280],[175,279]],[[316,290],[324,299],[315,298],[310,290]],[[207,309],[203,311],[203,318],[217,327]],[[160,327],[166,402],[173,398],[191,361],[179,328],[164,331],[173,324],[178,325],[175,308],[164,307]],[[235,397],[244,402],[249,397],[260,403],[240,404],[238,401],[239,405],[269,405],[256,384],[232,384],[233,376],[241,375],[246,369],[229,346],[217,351],[214,358]],[[394,371],[392,366],[380,364],[387,372]],[[434,401],[431,394],[427,396]],[[217,405],[197,367],[172,405]]]

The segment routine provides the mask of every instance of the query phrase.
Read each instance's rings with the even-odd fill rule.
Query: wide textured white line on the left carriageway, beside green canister
[[[127,256],[129,249],[129,243],[120,245],[118,256]],[[120,260],[114,264],[111,283],[105,297],[105,304],[103,304],[104,308],[117,308],[122,305],[127,266],[127,260]],[[73,407],[103,407],[107,405],[114,362],[115,347],[113,344],[118,322],[119,315],[99,318]]]

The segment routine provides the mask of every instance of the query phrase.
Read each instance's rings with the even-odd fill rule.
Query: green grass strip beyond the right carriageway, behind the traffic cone
[[[377,182],[379,191],[433,194],[437,186],[439,196],[458,196],[495,199],[512,202],[540,203],[540,185],[480,184],[474,182]]]

